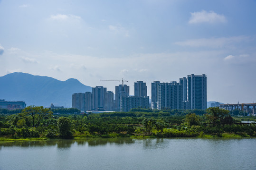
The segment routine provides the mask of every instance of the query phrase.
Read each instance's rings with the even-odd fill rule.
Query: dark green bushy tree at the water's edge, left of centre
[[[66,117],[60,117],[57,122],[59,136],[64,139],[72,139],[71,120]]]

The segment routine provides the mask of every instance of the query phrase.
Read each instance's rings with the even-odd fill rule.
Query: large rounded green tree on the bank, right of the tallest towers
[[[209,126],[218,126],[225,117],[229,116],[228,110],[220,109],[219,107],[210,107],[206,111],[205,117],[208,120]]]

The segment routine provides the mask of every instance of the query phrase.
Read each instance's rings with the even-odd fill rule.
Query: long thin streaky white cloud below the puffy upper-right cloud
[[[234,36],[234,37],[221,37],[221,38],[191,39],[183,42],[175,42],[174,44],[180,45],[180,46],[191,46],[191,47],[221,48],[232,43],[245,42],[248,40],[250,40],[250,37]]]

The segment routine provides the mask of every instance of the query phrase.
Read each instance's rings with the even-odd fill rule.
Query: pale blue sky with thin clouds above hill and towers
[[[0,76],[207,76],[207,101],[256,102],[256,0],[0,0]],[[10,99],[7,99],[10,100]]]

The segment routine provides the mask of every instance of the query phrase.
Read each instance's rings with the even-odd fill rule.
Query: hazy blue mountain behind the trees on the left
[[[83,85],[77,79],[59,81],[47,76],[27,73],[11,73],[0,77],[0,99],[25,101],[27,106],[72,107],[72,94],[91,92],[92,87]]]

